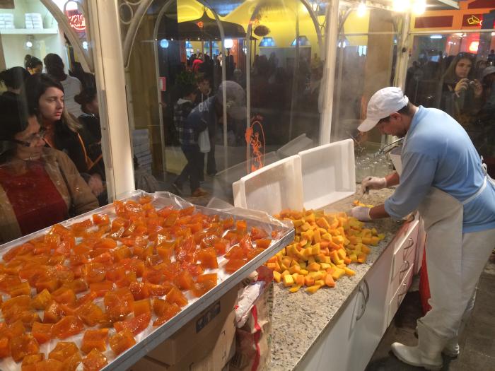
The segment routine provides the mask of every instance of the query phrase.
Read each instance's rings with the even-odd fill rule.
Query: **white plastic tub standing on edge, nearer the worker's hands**
[[[322,208],[356,192],[352,139],[311,148],[298,155],[305,208]]]

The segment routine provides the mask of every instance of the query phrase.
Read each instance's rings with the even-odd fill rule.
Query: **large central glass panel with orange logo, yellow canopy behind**
[[[233,202],[240,177],[317,144],[325,42],[325,4],[204,4],[153,1],[126,68],[137,187],[146,174],[196,204]]]

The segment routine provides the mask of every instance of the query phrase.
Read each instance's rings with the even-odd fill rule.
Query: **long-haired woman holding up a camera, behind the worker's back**
[[[482,84],[474,79],[472,54],[459,53],[448,66],[438,86],[436,107],[454,117],[470,131],[472,118],[481,107]]]

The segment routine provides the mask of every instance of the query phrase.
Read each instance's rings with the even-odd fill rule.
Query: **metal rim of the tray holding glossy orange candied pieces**
[[[153,196],[153,205],[156,208],[161,208],[168,205],[175,205],[181,208],[192,206],[192,204],[187,201],[180,199],[174,194],[170,194],[169,192],[156,192],[155,194],[146,194],[142,191],[130,192],[124,197],[122,200],[129,199],[138,199],[141,196],[148,195]],[[140,340],[136,340],[136,344],[131,348],[127,349],[124,353],[121,353],[112,360],[109,360],[107,366],[103,367],[102,370],[127,370],[129,367],[134,365],[138,360],[140,360],[144,355],[146,355],[149,351],[156,346],[160,345],[167,338],[172,336],[175,331],[179,330],[183,325],[189,322],[191,319],[197,316],[197,314],[201,313],[211,304],[213,304],[216,300],[221,298],[225,293],[228,292],[235,285],[240,283],[246,276],[248,276],[252,271],[261,266],[269,257],[272,257],[276,252],[280,249],[284,248],[294,238],[294,230],[292,225],[288,223],[281,222],[280,220],[276,220],[269,216],[267,213],[263,213],[260,211],[251,211],[243,208],[231,208],[228,210],[219,210],[214,208],[206,208],[202,206],[195,206],[198,211],[206,214],[216,214],[221,218],[230,218],[234,219],[244,219],[248,223],[248,228],[252,226],[261,226],[265,229],[271,230],[271,228],[276,227],[277,230],[280,231],[280,236],[278,240],[273,240],[272,245],[270,245],[267,249],[265,249],[261,254],[258,254],[257,257],[253,258],[247,264],[242,266],[238,271],[228,275],[224,273],[223,281],[219,282],[214,288],[209,290],[209,292],[202,295],[202,297],[197,298],[194,302],[191,302],[186,307],[184,307],[179,313],[177,313],[173,318],[165,322],[159,327],[156,327],[153,330],[145,330],[149,331],[149,334],[146,334]],[[76,218],[71,218],[69,220],[65,220],[62,225],[71,225],[72,223],[76,223],[78,221],[84,220],[88,217],[91,217],[93,213],[107,213],[110,216],[110,219],[115,217],[115,211],[112,204],[97,208],[89,213],[82,214],[81,216],[77,216]],[[28,240],[33,239],[39,235],[44,235],[51,227],[45,228],[43,230],[32,233],[31,235],[26,235],[24,237],[19,238],[18,240],[13,240],[8,242],[2,246],[0,246],[0,256],[8,251],[11,247],[18,246],[23,242],[27,242]],[[220,280],[220,278],[219,278]],[[139,335],[138,335],[139,336]],[[67,339],[66,339],[67,340]],[[0,367],[1,368],[1,367]],[[10,367],[9,367],[10,368]],[[81,365],[79,365],[81,368]],[[13,370],[10,368],[8,371]]]

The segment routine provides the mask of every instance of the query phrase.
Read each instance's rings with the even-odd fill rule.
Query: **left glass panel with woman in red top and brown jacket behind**
[[[84,3],[8,3],[0,9],[0,244],[107,204]]]

